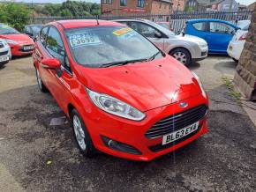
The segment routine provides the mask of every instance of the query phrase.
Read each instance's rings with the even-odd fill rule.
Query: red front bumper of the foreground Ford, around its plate
[[[183,100],[183,102],[184,101],[189,103],[189,107],[185,109],[197,107],[199,105],[208,105],[207,99],[201,95],[188,100]],[[163,154],[169,153],[170,151],[177,150],[185,144],[189,144],[194,139],[208,131],[207,116],[205,116],[200,120],[200,129],[196,133],[192,134],[191,137],[186,137],[182,141],[177,140],[176,144],[154,151],[152,147],[161,145],[162,137],[147,138],[145,133],[154,125],[155,122],[158,122],[162,118],[184,111],[184,108],[179,107],[178,104],[179,102],[169,106],[149,110],[146,112],[147,117],[141,122],[134,122],[112,114],[107,114],[94,107],[94,109],[90,111],[90,114],[85,114],[87,117],[94,116],[94,118],[85,119],[85,122],[90,136],[92,137],[94,146],[99,151],[124,159],[150,161],[162,156]],[[108,137],[122,144],[128,144],[140,151],[140,154],[131,154],[113,150],[104,144],[102,137]]]

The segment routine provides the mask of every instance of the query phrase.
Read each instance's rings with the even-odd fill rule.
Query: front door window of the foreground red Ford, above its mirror
[[[46,49],[49,51],[50,55],[58,58],[64,67],[69,69],[70,66],[65,65],[65,51],[64,43],[61,39],[60,34],[57,32],[56,28],[49,27],[49,33],[46,41]]]

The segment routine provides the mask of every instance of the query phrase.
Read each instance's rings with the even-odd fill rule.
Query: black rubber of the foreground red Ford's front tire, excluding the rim
[[[87,131],[87,127],[85,125],[85,123],[83,122],[81,116],[79,115],[78,111],[76,109],[73,109],[72,110],[72,114],[71,114],[71,122],[72,122],[72,128],[73,128],[73,134],[74,134],[74,138],[76,140],[76,143],[78,145],[78,148],[79,148],[79,151],[87,158],[93,158],[95,153],[96,153],[96,149],[94,148],[94,144],[93,144],[93,141]],[[80,121],[80,124],[81,124],[81,129],[83,130],[83,133],[84,133],[84,143],[86,144],[86,148],[82,148],[79,144],[79,140],[76,136],[76,131],[75,131],[75,128],[74,128],[74,118],[75,117],[78,117],[79,118],[79,121]]]

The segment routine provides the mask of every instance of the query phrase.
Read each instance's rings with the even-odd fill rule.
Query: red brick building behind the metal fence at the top
[[[184,0],[102,0],[101,3],[102,14],[110,15],[170,14],[184,10]]]

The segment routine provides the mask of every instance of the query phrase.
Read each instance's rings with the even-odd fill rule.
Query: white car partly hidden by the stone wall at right
[[[239,26],[241,29],[237,30],[237,33],[233,36],[228,46],[227,52],[235,62],[238,62],[242,50],[245,46],[245,40],[250,23],[250,20],[238,21],[237,26]]]

